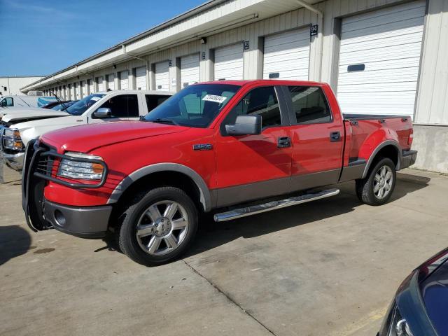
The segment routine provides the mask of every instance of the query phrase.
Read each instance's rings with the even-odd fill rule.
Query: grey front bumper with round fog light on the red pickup
[[[81,238],[99,238],[106,235],[111,205],[101,207],[70,207],[44,201],[45,220],[56,230]]]

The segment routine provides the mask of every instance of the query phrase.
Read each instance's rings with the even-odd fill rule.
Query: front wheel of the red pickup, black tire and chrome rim
[[[179,257],[197,232],[197,209],[183,190],[150,190],[123,214],[120,248],[141,265],[157,265]]]

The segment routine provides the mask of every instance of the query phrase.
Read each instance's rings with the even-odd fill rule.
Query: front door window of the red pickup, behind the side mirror
[[[225,125],[235,123],[237,116],[257,114],[262,117],[262,128],[281,125],[279,101],[273,86],[257,87],[246,94],[225,118],[221,130],[225,130]]]

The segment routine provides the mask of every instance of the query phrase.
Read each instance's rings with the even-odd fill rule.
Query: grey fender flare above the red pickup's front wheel
[[[129,188],[132,185],[132,183],[134,183],[138,179],[141,179],[144,176],[157,172],[178,172],[190,177],[190,179],[192,179],[193,182],[195,182],[197,188],[200,191],[200,202],[202,204],[202,207],[204,208],[204,211],[211,210],[210,190],[207,187],[207,183],[205,183],[204,179],[202,179],[200,174],[197,174],[197,172],[195,172],[190,167],[179,165],[178,163],[169,163],[169,162],[156,163],[154,165],[142,167],[126,176],[125,179],[123,179],[123,181],[118,183],[118,186],[116,186],[116,188],[113,190],[111,196],[109,197],[109,200],[107,201],[107,204],[113,204],[118,202],[120,196],[123,195],[125,190]]]

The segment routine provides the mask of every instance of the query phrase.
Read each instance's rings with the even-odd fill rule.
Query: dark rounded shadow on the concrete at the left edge
[[[27,253],[30,246],[31,236],[20,225],[0,226],[0,266]]]

